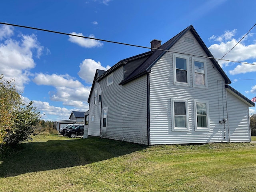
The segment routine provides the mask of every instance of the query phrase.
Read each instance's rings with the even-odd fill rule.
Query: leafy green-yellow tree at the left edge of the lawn
[[[32,102],[24,102],[14,79],[4,80],[0,74],[0,145],[31,139],[32,126],[40,117]]]

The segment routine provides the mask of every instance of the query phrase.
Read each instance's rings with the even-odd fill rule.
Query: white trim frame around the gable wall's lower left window
[[[174,127],[174,102],[185,102],[186,106],[186,128]],[[188,116],[188,99],[171,98],[171,109],[172,109],[172,131],[189,131],[189,116]]]

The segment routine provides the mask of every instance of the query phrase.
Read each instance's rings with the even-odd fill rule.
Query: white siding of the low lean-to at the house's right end
[[[248,105],[227,91],[230,142],[250,142]]]

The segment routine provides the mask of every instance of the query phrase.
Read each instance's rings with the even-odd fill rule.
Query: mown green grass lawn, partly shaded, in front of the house
[[[0,191],[256,191],[256,144],[143,146],[36,136],[0,162]]]

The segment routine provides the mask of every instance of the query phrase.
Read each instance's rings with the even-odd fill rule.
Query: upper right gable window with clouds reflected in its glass
[[[193,86],[207,88],[206,61],[192,58]]]

